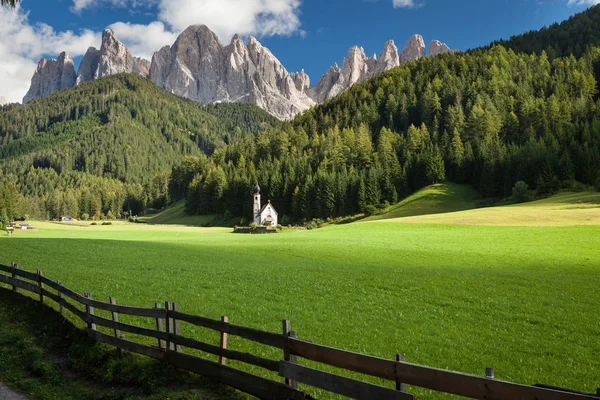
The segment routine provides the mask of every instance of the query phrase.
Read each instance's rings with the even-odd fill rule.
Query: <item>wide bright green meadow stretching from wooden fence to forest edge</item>
[[[500,220],[511,215],[512,225],[527,225],[527,215],[553,209],[587,213],[573,221],[588,225],[560,226],[564,215],[552,214],[545,226],[488,226],[508,225]],[[471,216],[460,218],[475,221],[469,225],[453,212],[419,217],[428,223],[399,223],[409,217],[264,236],[38,223],[39,232],[0,237],[0,262],[41,268],[95,298],[139,306],[178,301],[186,312],[272,331],[290,318],[299,337],[327,345],[387,358],[402,353],[410,362],[480,375],[492,366],[500,379],[595,392],[597,210],[598,194],[559,195],[464,211]],[[240,340],[231,345],[280,357]]]

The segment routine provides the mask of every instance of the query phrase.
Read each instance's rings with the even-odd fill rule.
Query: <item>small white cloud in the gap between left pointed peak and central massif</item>
[[[176,33],[169,32],[158,21],[148,25],[116,22],[110,28],[132,54],[147,60],[151,60],[152,55],[161,47],[171,45],[177,39]]]

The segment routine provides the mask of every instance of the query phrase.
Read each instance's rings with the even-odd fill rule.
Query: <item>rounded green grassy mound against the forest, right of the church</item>
[[[367,221],[438,214],[475,208],[479,194],[468,185],[440,183],[427,186],[394,204],[385,213],[367,218]]]

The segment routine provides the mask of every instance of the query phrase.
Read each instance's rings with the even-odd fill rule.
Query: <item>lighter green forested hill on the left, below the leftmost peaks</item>
[[[168,176],[278,122],[250,104],[202,106],[115,75],[0,108],[0,209],[7,216],[117,216],[161,207]]]

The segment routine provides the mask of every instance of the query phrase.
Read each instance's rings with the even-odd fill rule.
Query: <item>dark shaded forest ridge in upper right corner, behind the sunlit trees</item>
[[[502,45],[516,53],[541,54],[550,61],[556,57],[581,57],[590,47],[600,46],[600,5],[576,14],[561,23],[554,23],[539,31],[515,35],[492,45]]]

